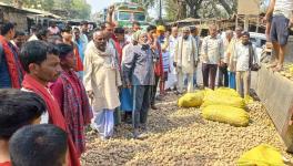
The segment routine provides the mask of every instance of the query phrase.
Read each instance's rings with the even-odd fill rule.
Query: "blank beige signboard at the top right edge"
[[[238,0],[238,14],[260,14],[260,0]]]

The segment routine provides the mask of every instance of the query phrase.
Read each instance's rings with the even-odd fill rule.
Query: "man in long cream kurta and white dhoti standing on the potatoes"
[[[108,139],[113,135],[113,112],[120,106],[119,86],[122,83],[114,50],[107,46],[102,31],[93,33],[93,40],[85,50],[84,66],[84,86],[94,111],[92,127],[102,139]]]

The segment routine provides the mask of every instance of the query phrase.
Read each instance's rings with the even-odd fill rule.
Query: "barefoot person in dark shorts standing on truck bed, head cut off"
[[[275,51],[275,62],[270,66],[279,72],[283,70],[289,29],[293,25],[293,0],[271,0],[266,20],[273,15],[270,38]]]

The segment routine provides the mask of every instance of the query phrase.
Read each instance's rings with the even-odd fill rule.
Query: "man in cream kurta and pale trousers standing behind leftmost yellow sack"
[[[190,28],[182,30],[183,35],[178,39],[174,52],[174,66],[178,70],[179,93],[183,93],[184,76],[188,77],[188,92],[193,92],[193,73],[198,66],[198,46]]]

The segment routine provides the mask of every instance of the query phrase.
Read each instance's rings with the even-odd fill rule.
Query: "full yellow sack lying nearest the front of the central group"
[[[209,105],[203,108],[202,116],[205,120],[226,123],[233,126],[247,126],[249,114],[243,108],[228,105]]]

